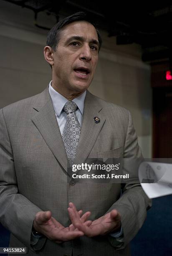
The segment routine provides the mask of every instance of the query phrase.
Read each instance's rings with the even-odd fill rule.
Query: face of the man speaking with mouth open
[[[63,95],[84,92],[94,77],[99,41],[86,21],[66,25],[53,52],[53,86]]]

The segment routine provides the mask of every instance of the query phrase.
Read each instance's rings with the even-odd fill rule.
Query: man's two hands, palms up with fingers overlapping
[[[69,203],[68,213],[72,222],[68,227],[64,227],[53,218],[50,211],[37,212],[33,227],[50,240],[61,243],[83,235],[89,237],[106,235],[107,233],[116,232],[121,226],[121,216],[117,210],[112,210],[106,215],[91,221],[88,220],[91,212],[85,212],[82,215],[82,210],[77,211],[75,205]]]

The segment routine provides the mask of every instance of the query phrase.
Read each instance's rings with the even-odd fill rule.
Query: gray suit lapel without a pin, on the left
[[[68,160],[66,150],[56,120],[51,97],[49,95],[48,89],[46,89],[43,93],[44,106],[41,108],[40,106],[34,107],[37,112],[35,111],[36,115],[32,118],[32,120],[61,167],[63,167],[63,169],[65,169],[67,172]]]

